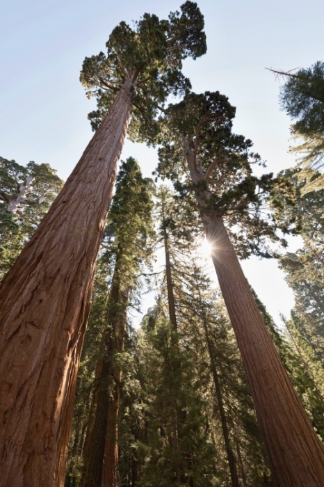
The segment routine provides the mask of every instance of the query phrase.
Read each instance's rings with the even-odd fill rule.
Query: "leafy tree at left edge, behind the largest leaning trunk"
[[[0,157],[0,279],[13,266],[63,186],[48,164]]]

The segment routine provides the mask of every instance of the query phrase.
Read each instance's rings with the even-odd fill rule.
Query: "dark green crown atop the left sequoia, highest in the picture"
[[[85,59],[81,83],[88,97],[97,98],[98,106],[88,115],[93,129],[99,127],[124,81],[133,85],[131,135],[137,138],[147,121],[154,119],[157,105],[163,105],[169,94],[191,88],[181,73],[182,61],[206,52],[204,17],[195,2],[186,1],[180,10],[170,13],[168,20],[145,13],[133,29],[121,22],[106,42],[107,54]]]

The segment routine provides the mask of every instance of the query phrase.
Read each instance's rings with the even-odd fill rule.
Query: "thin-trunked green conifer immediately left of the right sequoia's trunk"
[[[231,480],[225,485],[272,486],[268,458],[225,303],[197,264],[192,266],[187,295],[181,304],[186,310],[184,315],[188,314],[187,340],[200,364],[200,375],[209,379],[205,388],[216,406],[210,427],[216,438],[221,434],[224,440],[224,453],[218,447],[217,462],[226,479],[227,469],[223,465],[227,457]]]

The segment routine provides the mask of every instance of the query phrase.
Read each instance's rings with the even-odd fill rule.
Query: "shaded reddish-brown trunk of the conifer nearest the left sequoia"
[[[124,347],[129,287],[122,285],[122,248],[118,249],[111,292],[108,299],[107,324],[104,333],[104,357],[97,392],[97,406],[89,433],[88,458],[85,458],[83,487],[119,487],[118,410],[122,372],[115,355]]]

